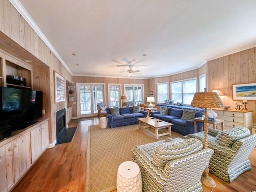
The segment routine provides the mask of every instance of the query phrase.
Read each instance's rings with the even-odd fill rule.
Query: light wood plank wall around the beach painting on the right
[[[256,47],[240,51],[225,57],[208,61],[207,67],[208,91],[220,90],[224,105],[235,108],[232,97],[232,85],[256,82],[255,58]],[[241,101],[238,101],[241,102]],[[253,110],[253,122],[256,123],[256,100],[247,100],[248,110]]]

